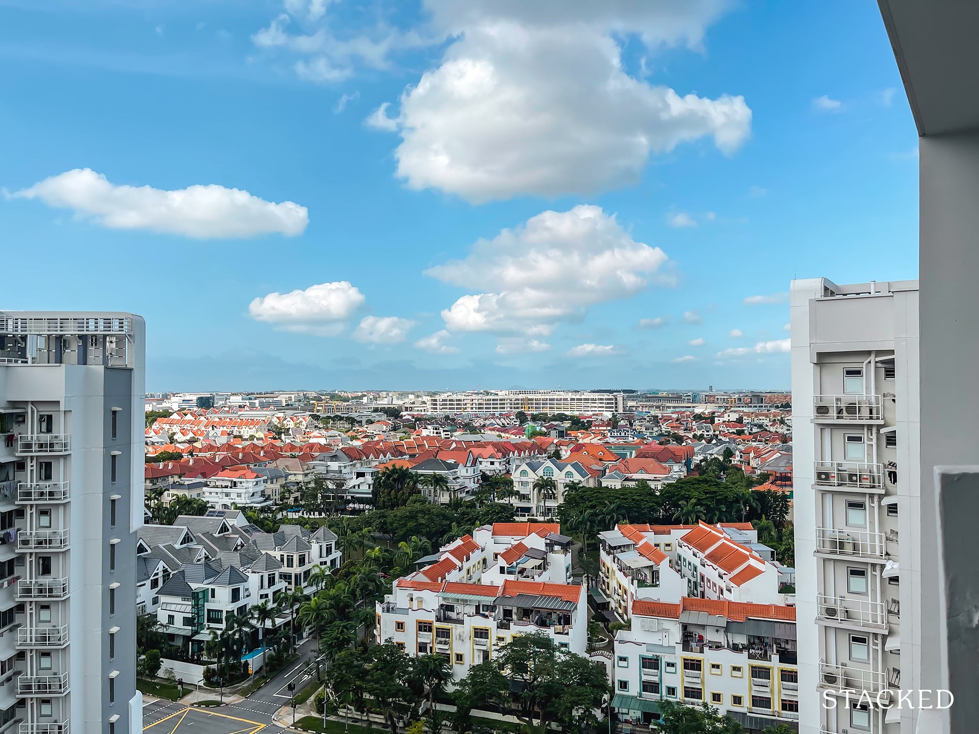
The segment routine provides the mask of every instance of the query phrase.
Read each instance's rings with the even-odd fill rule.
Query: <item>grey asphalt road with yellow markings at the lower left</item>
[[[255,693],[236,704],[194,708],[179,702],[155,701],[143,707],[143,731],[150,734],[279,734],[285,731],[272,723],[276,711],[288,706],[289,684],[300,691],[315,673],[305,672],[314,658],[316,644],[306,640],[299,648],[300,659],[286,667]]]

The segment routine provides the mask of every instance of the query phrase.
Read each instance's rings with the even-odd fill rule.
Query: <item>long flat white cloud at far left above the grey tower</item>
[[[146,229],[199,239],[270,233],[293,237],[303,234],[309,222],[305,206],[266,202],[241,189],[210,184],[164,191],[116,185],[91,168],[74,168],[8,196],[74,209],[77,218],[110,229]]]

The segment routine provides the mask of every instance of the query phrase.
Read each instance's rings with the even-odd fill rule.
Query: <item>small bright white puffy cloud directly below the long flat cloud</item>
[[[363,294],[344,280],[287,294],[270,293],[255,298],[248,310],[257,321],[278,324],[285,331],[334,337],[363,302]]]

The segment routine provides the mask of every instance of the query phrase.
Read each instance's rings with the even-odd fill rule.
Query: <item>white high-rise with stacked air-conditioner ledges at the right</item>
[[[800,731],[913,734],[917,282],[794,281],[791,330]]]

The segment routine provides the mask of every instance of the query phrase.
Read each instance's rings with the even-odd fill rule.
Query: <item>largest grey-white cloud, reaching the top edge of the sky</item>
[[[723,0],[429,0],[441,64],[400,96],[396,175],[470,202],[588,195],[634,183],[649,159],[750,135],[741,96],[677,94],[630,76],[622,44],[699,48]]]

